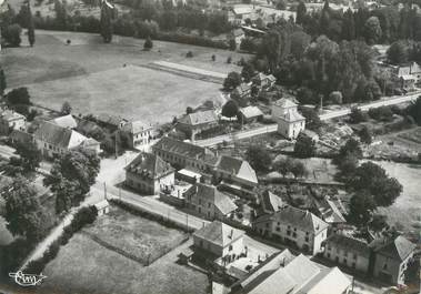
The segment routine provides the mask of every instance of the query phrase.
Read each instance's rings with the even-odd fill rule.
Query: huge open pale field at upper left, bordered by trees
[[[98,34],[38,30],[33,48],[3,49],[0,59],[9,89],[27,85],[36,103],[59,110],[69,101],[76,113],[108,112],[154,123],[171,121],[189,105],[221,101],[221,85],[142,65],[169,61],[227,74],[240,71],[225,62],[228,57],[233,62],[247,58],[171,42],[153,41],[148,52],[142,47],[143,40],[133,38],[114,37],[104,44]],[[193,58],[186,58],[188,51]]]

